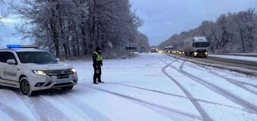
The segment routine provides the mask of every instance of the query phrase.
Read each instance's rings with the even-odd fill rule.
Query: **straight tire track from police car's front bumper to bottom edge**
[[[82,85],[82,84],[79,84],[79,85]],[[141,99],[137,99],[137,98],[130,97],[130,96],[127,96],[127,95],[123,95],[123,94],[120,94],[120,93],[108,91],[108,90],[101,89],[101,88],[91,87],[91,86],[87,86],[87,85],[82,85],[82,86],[85,86],[85,87],[88,87],[88,88],[92,88],[92,89],[95,89],[95,90],[98,90],[98,91],[106,92],[106,93],[109,93],[109,94],[113,94],[113,95],[116,95],[116,96],[119,96],[119,97],[123,97],[123,98],[129,99],[129,100],[133,100],[133,101],[137,101],[137,102],[140,102],[140,103],[144,103],[144,104],[147,104],[147,105],[151,105],[151,106],[154,106],[156,108],[160,108],[160,109],[163,109],[163,110],[166,110],[166,111],[169,111],[169,112],[180,114],[180,115],[192,118],[192,119],[203,120],[201,117],[196,116],[194,114],[189,114],[189,113],[186,113],[186,112],[183,112],[183,111],[174,110],[174,109],[167,108],[167,107],[164,107],[164,106],[161,106],[161,105],[158,105],[158,104],[154,104],[154,103],[147,102],[147,101],[144,101],[144,100],[141,100]],[[148,108],[148,107],[146,107],[146,108]]]

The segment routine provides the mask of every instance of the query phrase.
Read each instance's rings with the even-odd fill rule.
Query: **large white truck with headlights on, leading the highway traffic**
[[[183,41],[183,51],[186,56],[207,57],[209,42],[205,36],[195,36]]]

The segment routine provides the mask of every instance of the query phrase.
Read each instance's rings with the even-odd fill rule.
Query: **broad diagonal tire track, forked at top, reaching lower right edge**
[[[169,59],[169,58],[168,58]],[[170,59],[171,60],[171,59]],[[210,88],[211,90],[213,90],[214,92],[217,92],[220,95],[223,95],[224,97],[226,97],[227,99],[231,100],[232,102],[235,102],[238,105],[241,105],[242,107],[248,109],[249,113],[253,113],[253,114],[257,114],[257,106],[228,92],[227,90],[214,85],[213,83],[210,83],[208,81],[202,80],[196,76],[193,76],[185,71],[182,70],[183,65],[184,65],[185,61],[182,62],[182,64],[180,65],[179,69],[176,69],[175,67],[171,66],[171,68],[175,69],[176,71],[178,71],[179,73],[185,75],[186,77],[192,79],[193,81],[196,81],[202,85],[204,85],[207,88]]]

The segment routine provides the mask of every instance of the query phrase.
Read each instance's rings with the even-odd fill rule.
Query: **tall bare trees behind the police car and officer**
[[[90,55],[96,46],[105,52],[124,51],[142,26],[129,0],[21,0],[10,3],[23,20],[16,26],[29,39],[56,57]]]

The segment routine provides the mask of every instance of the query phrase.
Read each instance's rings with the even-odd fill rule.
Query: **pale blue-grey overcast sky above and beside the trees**
[[[257,8],[256,0],[131,0],[131,3],[132,9],[137,9],[137,14],[145,21],[139,31],[148,37],[150,45],[158,45],[173,34],[196,28],[203,20],[215,21],[222,13]],[[21,35],[12,35],[14,24],[21,22],[7,19],[4,24],[0,30],[3,40],[0,48],[8,43],[21,44]]]

